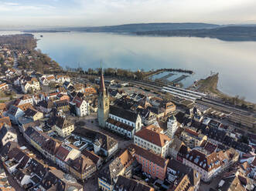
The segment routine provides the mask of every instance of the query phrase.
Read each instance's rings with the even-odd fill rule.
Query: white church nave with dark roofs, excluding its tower
[[[142,118],[135,112],[111,106],[105,127],[132,139],[142,129]]]

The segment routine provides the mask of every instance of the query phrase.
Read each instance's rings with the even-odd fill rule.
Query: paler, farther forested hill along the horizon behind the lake
[[[80,32],[148,32],[183,29],[216,28],[220,25],[207,23],[141,23],[128,25],[98,26],[98,27],[75,27],[65,28],[70,31]]]

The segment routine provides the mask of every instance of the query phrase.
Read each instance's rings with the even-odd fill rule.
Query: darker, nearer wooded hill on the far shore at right
[[[256,41],[256,26],[226,26],[208,29],[155,30],[135,32],[136,35],[209,37],[225,41]]]

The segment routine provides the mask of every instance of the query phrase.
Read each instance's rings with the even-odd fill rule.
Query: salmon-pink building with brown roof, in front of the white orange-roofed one
[[[142,165],[143,172],[150,174],[154,178],[162,180],[166,178],[169,159],[156,155],[140,146],[132,145],[131,148],[135,149],[135,158]]]

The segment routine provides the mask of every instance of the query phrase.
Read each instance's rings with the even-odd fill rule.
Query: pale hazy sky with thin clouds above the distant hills
[[[256,0],[0,0],[0,25],[256,23]]]

